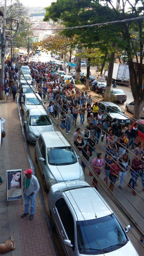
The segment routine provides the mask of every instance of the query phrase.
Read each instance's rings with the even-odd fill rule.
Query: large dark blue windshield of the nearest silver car
[[[122,227],[114,214],[94,220],[77,221],[77,239],[79,251],[96,254],[94,251],[113,251],[126,243]]]

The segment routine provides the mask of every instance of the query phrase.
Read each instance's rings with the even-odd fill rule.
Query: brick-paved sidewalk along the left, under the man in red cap
[[[5,119],[6,136],[0,149],[0,175],[3,184],[0,186],[0,243],[5,243],[10,236],[14,237],[15,250],[2,255],[6,256],[55,256],[53,243],[47,227],[43,209],[36,194],[36,212],[34,219],[29,216],[21,218],[24,213],[21,200],[9,201],[6,195],[6,170],[30,168],[25,149],[17,103],[12,95],[9,102],[0,101],[0,116]]]

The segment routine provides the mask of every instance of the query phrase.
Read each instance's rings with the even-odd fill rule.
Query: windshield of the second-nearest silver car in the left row
[[[77,163],[77,157],[72,147],[48,147],[48,163],[51,165],[69,165]]]

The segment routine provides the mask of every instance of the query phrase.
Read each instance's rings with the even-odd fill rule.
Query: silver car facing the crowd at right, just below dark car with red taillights
[[[106,111],[106,114],[110,121],[112,121],[114,118],[117,119],[117,122],[119,124],[122,124],[122,126],[128,126],[130,124],[130,119],[125,116],[124,112],[120,109],[119,106],[112,102],[99,102],[98,104],[99,109],[104,112]]]

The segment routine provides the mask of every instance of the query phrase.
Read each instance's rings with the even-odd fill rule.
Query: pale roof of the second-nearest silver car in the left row
[[[70,144],[60,132],[45,132],[41,133],[46,147],[69,147]]]

